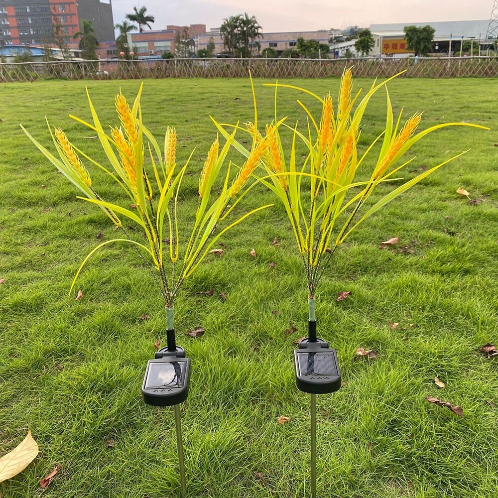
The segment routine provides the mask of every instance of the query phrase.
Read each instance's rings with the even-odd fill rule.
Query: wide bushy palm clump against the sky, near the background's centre
[[[223,20],[220,34],[223,38],[224,50],[235,57],[249,58],[252,49],[259,52],[262,38],[261,26],[256,18],[245,12],[244,14],[232,15]]]

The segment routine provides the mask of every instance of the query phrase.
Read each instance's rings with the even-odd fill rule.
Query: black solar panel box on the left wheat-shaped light
[[[147,362],[142,384],[145,403],[153,406],[173,406],[187,399],[190,385],[190,359],[185,350],[176,346],[175,351],[162,348],[155,360]]]

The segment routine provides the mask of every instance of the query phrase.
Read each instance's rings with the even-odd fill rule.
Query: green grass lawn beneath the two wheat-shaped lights
[[[273,117],[267,82],[255,81],[261,122]],[[337,79],[291,83],[319,95],[330,90],[336,103]],[[90,119],[85,85],[102,122],[116,124],[115,93],[121,86],[132,99],[139,82],[1,87],[0,455],[28,428],[40,453],[0,484],[0,495],[40,496],[38,481],[61,465],[45,497],[174,497],[173,411],[144,405],[140,394],[154,342],[165,342],[161,297],[136,253],[120,245],[90,260],[76,284],[81,300],[68,296],[85,255],[116,233],[19,128],[48,145],[46,115],[103,160],[95,133],[68,118]],[[370,81],[357,80],[361,86]],[[334,254],[317,317],[319,336],[337,348],[344,385],[317,397],[318,496],[498,497],[498,359],[478,351],[498,341],[497,82],[398,79],[389,94],[395,114],[425,111],[424,127],[464,121],[491,130],[452,127],[419,142],[406,177],[471,150],[379,211]],[[288,90],[278,97],[279,115],[304,125],[297,98],[317,110]],[[216,135],[209,115],[252,121],[249,81],[146,80],[142,110],[159,141],[167,124],[176,126],[179,163],[196,147],[182,194],[188,217]],[[364,117],[364,146],[384,119],[378,92]],[[112,196],[115,186],[95,172],[99,181],[103,197]],[[459,187],[482,202],[469,204]],[[255,192],[244,209],[272,202],[263,188]],[[271,245],[275,237],[279,246]],[[380,250],[392,237],[399,244]],[[177,341],[192,362],[182,406],[189,497],[308,497],[309,396],[295,387],[293,367],[293,343],[306,335],[307,295],[292,233],[276,206],[222,242],[223,257],[209,256],[175,305]],[[211,288],[212,296],[198,294]],[[352,295],[336,302],[340,291]],[[297,330],[286,334],[289,322]],[[202,338],[183,336],[197,325],[206,329]],[[354,361],[359,347],[379,356]],[[425,396],[460,405],[464,417]],[[290,420],[278,424],[281,415]]]

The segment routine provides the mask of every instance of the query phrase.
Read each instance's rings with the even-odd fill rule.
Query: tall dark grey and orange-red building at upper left
[[[55,25],[71,44],[81,19],[93,21],[99,42],[115,40],[111,0],[0,0],[0,46],[54,44]]]

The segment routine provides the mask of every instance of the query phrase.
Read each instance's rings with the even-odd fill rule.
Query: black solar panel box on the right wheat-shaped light
[[[323,339],[303,339],[294,350],[297,388],[311,394],[327,394],[341,387],[341,371],[335,349]]]

